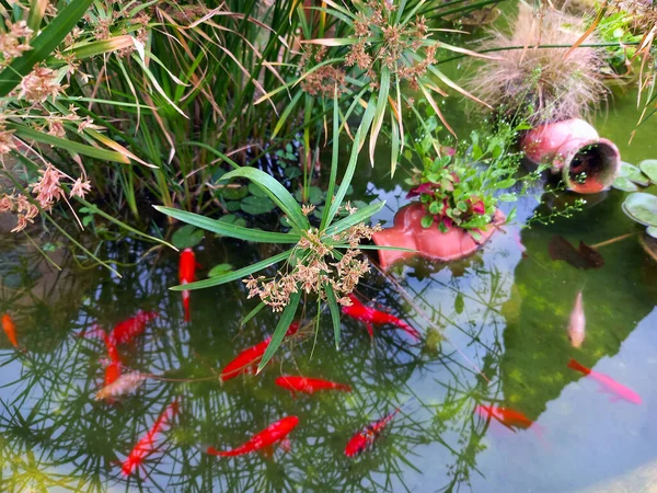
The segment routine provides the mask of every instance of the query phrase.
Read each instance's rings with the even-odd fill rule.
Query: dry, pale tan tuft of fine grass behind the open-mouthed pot
[[[600,51],[587,46],[569,49],[584,32],[577,18],[555,10],[535,15],[520,3],[511,34],[494,28],[484,42],[487,50],[499,53],[469,85],[492,106],[532,125],[585,116],[607,90]],[[595,36],[586,43],[595,44]]]

